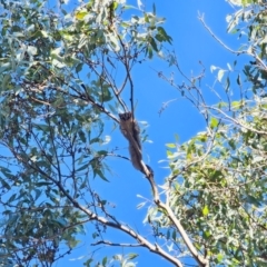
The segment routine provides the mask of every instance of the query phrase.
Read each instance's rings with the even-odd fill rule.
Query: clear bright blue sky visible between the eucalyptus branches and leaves
[[[71,3],[72,0],[70,0]],[[210,73],[210,66],[220,66],[227,68],[226,65],[233,63],[236,59],[234,55],[226,51],[216,40],[207,32],[198,20],[198,12],[205,14],[206,23],[212,31],[229,47],[237,49],[240,41],[237,36],[227,33],[226,16],[235,10],[224,0],[155,0],[144,1],[146,10],[152,9],[155,2],[157,14],[165,17],[167,22],[165,29],[174,39],[174,47],[180,67],[188,76],[200,71],[199,60],[206,67],[206,79],[202,82],[202,90],[209,96],[208,86],[215,81],[215,75]],[[137,6],[137,1],[129,1]],[[241,59],[241,58],[240,58]],[[237,58],[239,60],[239,58]],[[136,88],[136,99],[138,106],[136,118],[140,121],[147,121],[149,127],[147,134],[151,142],[144,144],[144,159],[148,162],[154,171],[156,181],[164,184],[165,177],[168,175],[167,162],[158,162],[166,159],[167,142],[175,142],[175,134],[179,136],[179,142],[187,141],[198,131],[205,130],[205,123],[197,110],[184,100],[178,91],[160,80],[154,69],[170,73],[172,70],[159,59],[148,60],[141,66],[134,69],[134,82]],[[182,78],[177,77],[176,81],[182,82]],[[129,97],[127,92],[126,99]],[[164,102],[178,99],[159,116],[159,110]],[[210,102],[215,99],[210,96]],[[128,156],[127,141],[123,139],[118,129],[107,132],[112,140],[107,145],[108,149],[119,147],[121,155]],[[145,198],[151,197],[151,190],[147,180],[140,172],[135,170],[130,162],[122,159],[112,158],[109,160],[112,168],[112,175],[109,175],[110,182],[95,180],[92,184],[96,190],[103,197],[116,205],[113,209],[117,218],[145,236],[151,236],[149,227],[144,226],[142,220],[146,215],[146,207],[137,210],[137,205],[142,200],[137,197],[141,195]],[[88,236],[81,237],[81,245],[71,255],[59,260],[57,266],[82,266],[85,258],[82,256],[90,255],[92,249],[89,245],[91,240],[90,226],[87,227]],[[134,241],[123,234],[108,229],[109,240],[130,243]],[[134,241],[135,243],[135,241]],[[95,256],[102,258],[105,255],[111,256],[113,253],[127,254],[136,251],[140,256],[135,259],[138,266],[171,266],[165,259],[157,255],[151,255],[146,248],[122,249],[122,248],[103,248],[97,250]],[[79,259],[78,259],[79,258]],[[76,261],[71,259],[77,259]]]

